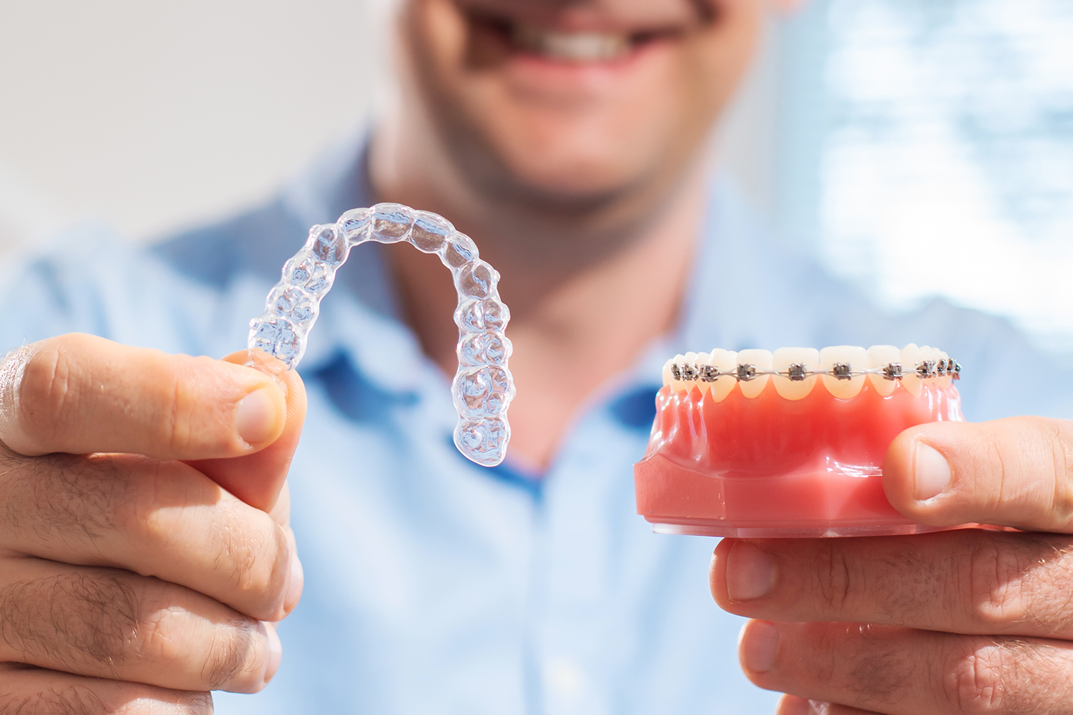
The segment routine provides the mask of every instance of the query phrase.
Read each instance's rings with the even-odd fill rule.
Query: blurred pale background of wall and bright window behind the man
[[[3,0],[0,265],[267,197],[391,91],[393,0]],[[782,240],[886,306],[1005,315],[1073,363],[1073,2],[809,0],[717,151]]]

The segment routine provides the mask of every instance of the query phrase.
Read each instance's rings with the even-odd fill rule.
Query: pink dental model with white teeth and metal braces
[[[964,421],[961,367],[934,347],[712,351],[668,360],[637,512],[656,532],[739,537],[935,531],[883,493],[883,456],[914,424]]]

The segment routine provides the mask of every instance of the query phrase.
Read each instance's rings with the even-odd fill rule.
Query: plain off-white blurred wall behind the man
[[[132,238],[267,195],[383,95],[394,0],[0,5],[0,254],[95,215]],[[725,158],[770,204],[774,64]]]

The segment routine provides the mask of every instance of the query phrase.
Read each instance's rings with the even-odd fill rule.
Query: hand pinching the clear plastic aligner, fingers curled
[[[210,713],[276,672],[306,398],[246,360],[75,333],[0,362],[0,712]]]

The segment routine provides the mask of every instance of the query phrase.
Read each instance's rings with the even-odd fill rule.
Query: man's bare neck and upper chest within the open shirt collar
[[[377,197],[443,214],[499,270],[517,386],[510,459],[542,470],[583,404],[673,326],[703,214],[703,170],[692,167],[662,191],[643,188],[641,200],[549,209],[482,200],[445,152],[420,136],[402,143],[391,132],[377,135]],[[450,278],[433,255],[388,248],[410,325],[454,374]]]

